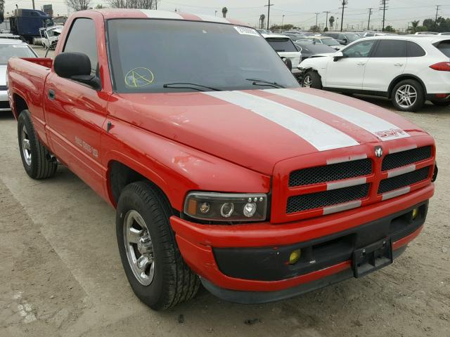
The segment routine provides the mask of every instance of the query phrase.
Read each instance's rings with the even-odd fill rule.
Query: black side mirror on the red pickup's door
[[[59,77],[73,79],[96,90],[101,88],[100,80],[91,75],[91,60],[84,53],[60,53],[53,67]]]

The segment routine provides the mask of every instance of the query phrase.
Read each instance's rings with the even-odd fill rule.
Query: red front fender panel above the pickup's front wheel
[[[119,161],[165,192],[174,209],[183,209],[189,191],[270,191],[271,179],[243,166],[158,136],[119,119],[102,136],[102,162]],[[107,177],[109,174],[107,173]],[[108,178],[106,189],[109,190]],[[110,203],[114,201],[110,195]]]

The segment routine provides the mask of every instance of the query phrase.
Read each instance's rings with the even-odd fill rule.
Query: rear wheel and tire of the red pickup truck
[[[20,112],[18,118],[18,140],[20,157],[28,176],[33,179],[46,179],[55,175],[58,163],[39,141],[34,131],[28,110]]]

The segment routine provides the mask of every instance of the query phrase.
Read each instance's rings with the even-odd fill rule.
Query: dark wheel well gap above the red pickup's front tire
[[[160,197],[162,197],[162,199],[167,202],[169,208],[172,209],[169,198],[167,198],[165,192],[163,192],[160,187],[158,187],[158,185],[153,183],[153,181],[149,180],[145,176],[142,176],[141,173],[130,169],[128,166],[120,163],[119,161],[111,161],[108,171],[108,185],[110,189],[109,192],[114,205],[117,205],[117,201],[119,201],[120,194],[122,193],[122,190],[125,186],[131,183],[136,183],[136,181],[145,180],[153,186],[155,191],[160,194]],[[172,212],[179,213],[179,211],[176,211],[174,209]]]

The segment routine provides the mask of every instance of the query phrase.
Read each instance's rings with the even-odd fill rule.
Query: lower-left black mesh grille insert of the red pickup
[[[370,184],[340,188],[311,194],[296,195],[288,198],[286,213],[297,213],[310,209],[342,204],[367,197]]]

